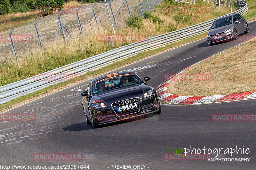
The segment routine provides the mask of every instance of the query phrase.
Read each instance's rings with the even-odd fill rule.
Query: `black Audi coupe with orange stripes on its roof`
[[[85,121],[97,125],[146,115],[160,114],[161,107],[153,87],[132,71],[96,78],[82,92]]]

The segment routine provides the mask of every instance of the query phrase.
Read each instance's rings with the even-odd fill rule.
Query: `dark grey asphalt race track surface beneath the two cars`
[[[256,22],[249,24],[256,34]],[[246,36],[241,35],[241,36]],[[113,72],[133,70],[157,87],[166,73],[180,70],[241,42],[209,46],[206,39],[166,51]],[[137,68],[137,69],[136,69]],[[112,73],[113,73],[112,72]],[[0,165],[145,165],[145,169],[254,169],[256,122],[213,122],[212,114],[255,114],[256,100],[195,106],[162,105],[160,115],[141,121],[116,122],[92,129],[86,125],[81,92],[90,80],[76,84],[6,113],[34,113],[35,121],[0,121]],[[165,148],[250,148],[249,162],[164,160]],[[81,161],[35,161],[35,153],[82,153]],[[113,169],[113,168],[112,168]]]

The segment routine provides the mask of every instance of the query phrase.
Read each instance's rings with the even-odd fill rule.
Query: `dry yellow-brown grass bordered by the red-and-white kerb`
[[[256,39],[230,48],[195,66],[184,74],[210,73],[209,81],[173,81],[168,92],[184,96],[208,96],[256,90]]]

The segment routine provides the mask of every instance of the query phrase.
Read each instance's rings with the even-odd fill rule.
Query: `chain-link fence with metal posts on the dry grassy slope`
[[[124,25],[125,18],[131,15],[143,17],[143,12],[153,11],[160,2],[162,0],[107,0],[38,18],[0,32],[0,60],[22,57],[32,49],[40,49],[48,42],[60,38],[67,40],[74,36],[83,36],[92,30],[109,27],[110,18],[115,29],[118,29]],[[35,12],[52,10],[40,9],[41,11]]]

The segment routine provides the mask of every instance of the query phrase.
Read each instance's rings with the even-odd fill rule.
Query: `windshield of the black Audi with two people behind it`
[[[139,85],[143,83],[134,73],[112,76],[97,81],[92,81],[92,95],[116,91],[126,86]]]

